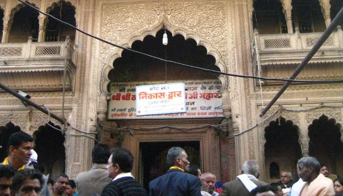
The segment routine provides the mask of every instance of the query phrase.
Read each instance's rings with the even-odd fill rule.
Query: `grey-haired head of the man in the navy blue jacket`
[[[172,147],[168,150],[167,164],[169,166],[177,166],[185,172],[188,172],[190,162],[188,161],[188,156],[184,149],[181,147]]]

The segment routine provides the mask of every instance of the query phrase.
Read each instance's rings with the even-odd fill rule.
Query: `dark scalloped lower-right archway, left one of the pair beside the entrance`
[[[296,163],[301,158],[298,127],[292,121],[280,117],[271,121],[265,128],[265,165],[267,179],[280,180],[280,173],[276,171],[296,172]]]

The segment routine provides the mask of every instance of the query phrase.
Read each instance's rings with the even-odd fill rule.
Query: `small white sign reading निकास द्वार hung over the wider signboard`
[[[186,112],[185,83],[136,86],[136,116]]]

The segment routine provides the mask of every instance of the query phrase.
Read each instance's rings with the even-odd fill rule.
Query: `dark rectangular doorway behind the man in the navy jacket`
[[[164,173],[169,169],[166,163],[168,150],[171,147],[183,148],[191,164],[199,165],[200,163],[200,142],[141,142],[141,176],[143,176],[143,186],[149,189],[149,182]]]

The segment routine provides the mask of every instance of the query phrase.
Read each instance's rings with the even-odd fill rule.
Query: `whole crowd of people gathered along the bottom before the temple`
[[[291,172],[283,171],[278,182],[260,181],[258,163],[248,160],[235,180],[223,183],[190,165],[184,149],[172,147],[167,154],[170,169],[146,190],[132,175],[134,157],[125,148],[96,145],[91,170],[79,173],[75,181],[65,173],[49,179],[32,148],[29,134],[10,136],[8,157],[0,164],[0,196],[343,196],[343,178],[329,174],[314,157],[298,161],[294,180]]]

